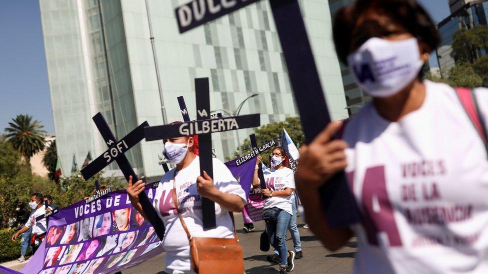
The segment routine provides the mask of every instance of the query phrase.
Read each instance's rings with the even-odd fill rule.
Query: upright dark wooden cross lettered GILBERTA
[[[210,92],[208,78],[195,79],[196,93],[196,121],[186,121],[182,124],[146,127],[146,141],[161,140],[180,136],[198,135],[200,153],[200,174],[203,171],[213,178],[212,138],[211,133],[258,127],[259,114],[242,115],[212,119],[210,116]],[[182,107],[186,110],[186,106]],[[186,110],[187,113],[187,110]],[[189,120],[189,117],[187,118]],[[215,228],[215,204],[202,198],[203,229]]]

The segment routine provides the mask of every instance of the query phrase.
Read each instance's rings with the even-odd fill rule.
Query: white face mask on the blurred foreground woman
[[[361,89],[373,97],[388,97],[400,91],[423,65],[416,38],[369,38],[347,56],[347,63]]]

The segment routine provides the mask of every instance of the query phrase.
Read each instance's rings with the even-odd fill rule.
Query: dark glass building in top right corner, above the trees
[[[457,4],[458,1],[452,3]],[[488,2],[467,1],[462,7],[456,6],[455,10],[449,17],[437,24],[441,42],[436,52],[441,73],[448,72],[455,65],[454,58],[451,56],[454,32],[461,28],[469,29],[475,25],[487,25]],[[485,54],[484,52],[478,53],[479,56]]]

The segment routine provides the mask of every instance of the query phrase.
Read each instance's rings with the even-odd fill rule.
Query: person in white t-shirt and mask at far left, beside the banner
[[[15,241],[19,235],[27,232],[29,229],[32,229],[32,240],[34,241],[31,243],[32,253],[35,253],[45,237],[47,227],[46,219],[42,218],[39,221],[35,220],[35,218],[43,216],[46,213],[45,207],[42,204],[43,198],[44,197],[40,193],[33,193],[30,195],[29,207],[33,210],[33,212],[30,214],[27,222],[25,222],[25,225],[12,236],[12,241]]]

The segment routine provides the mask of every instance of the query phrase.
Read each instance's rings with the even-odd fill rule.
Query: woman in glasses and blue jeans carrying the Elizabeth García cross
[[[286,167],[288,158],[281,147],[273,149],[270,165],[271,168],[263,172],[266,189],[261,189],[261,195],[268,197],[264,203],[263,211],[272,211],[275,216],[273,220],[266,221],[266,231],[269,236],[269,243],[278,251],[278,255],[268,256],[267,260],[279,264],[279,273],[287,273],[293,271],[295,259],[295,252],[288,251],[286,246],[286,230],[288,230],[293,216],[295,217],[296,228],[296,208],[293,214],[291,198],[295,189],[295,180],[293,171]],[[252,185],[260,187],[257,172],[254,172]],[[297,250],[301,253],[299,235],[297,240]]]

